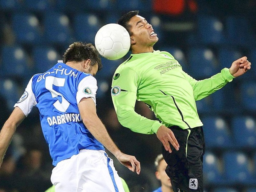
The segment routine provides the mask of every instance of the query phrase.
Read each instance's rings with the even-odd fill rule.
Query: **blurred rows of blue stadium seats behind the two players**
[[[207,3],[203,3],[201,11],[189,20],[195,26],[192,30],[170,32],[164,25],[170,18],[152,12],[150,2],[0,0],[0,97],[6,103],[6,109],[2,110],[10,114],[31,76],[54,65],[70,43],[94,43],[94,36],[101,26],[116,22],[127,11],[140,10],[140,15],[149,18],[150,23],[156,19],[161,21],[156,23],[156,28],[153,25],[156,33],[161,34],[155,50],[169,51],[184,71],[195,79],[208,78],[224,67],[229,68],[234,60],[244,55],[252,62],[252,70],[247,74],[196,103],[204,123],[206,191],[256,191],[255,28],[246,16],[211,12],[207,9]],[[182,39],[177,35],[181,33]],[[107,109],[100,108],[99,104],[98,110],[112,108],[109,100],[111,77],[123,60],[102,58],[103,69],[96,75],[99,87],[97,96],[100,103],[109,103],[104,105]],[[36,123],[37,118],[34,115],[30,119]],[[4,121],[0,120],[1,125]],[[33,122],[30,125],[33,126]],[[117,142],[124,141],[120,139]],[[137,147],[134,146],[134,150]],[[144,179],[148,177],[150,182],[155,180],[152,159],[151,164],[144,165],[146,170],[151,171],[145,171]],[[144,159],[140,161],[147,162]],[[135,181],[131,179],[133,175],[128,177],[122,172],[120,175],[130,185],[140,185],[138,180],[143,180],[140,177]],[[145,183],[141,185],[147,186]],[[148,184],[150,190],[159,183],[153,184]]]

